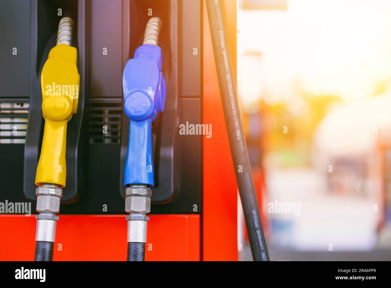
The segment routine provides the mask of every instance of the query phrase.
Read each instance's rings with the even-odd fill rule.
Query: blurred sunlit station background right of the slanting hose
[[[391,1],[239,0],[237,15],[271,259],[391,260]]]

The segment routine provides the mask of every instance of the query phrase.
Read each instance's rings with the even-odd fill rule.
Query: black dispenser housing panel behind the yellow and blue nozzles
[[[5,0],[0,11],[0,201],[36,201],[44,124],[40,74],[56,45],[59,20],[70,16],[80,87],[77,114],[68,123],[61,214],[125,213],[129,119],[122,109],[122,72],[153,16],[163,22],[159,45],[167,97],[152,126],[151,213],[201,213],[202,136],[179,134],[180,123],[202,123],[201,0]],[[10,57],[13,47],[18,54]],[[20,133],[9,133],[12,125]]]

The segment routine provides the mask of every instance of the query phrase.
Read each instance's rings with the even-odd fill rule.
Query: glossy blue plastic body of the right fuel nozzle
[[[129,141],[124,185],[154,185],[152,121],[164,110],[166,84],[159,46],[145,44],[128,60],[122,76],[124,111],[129,117]]]

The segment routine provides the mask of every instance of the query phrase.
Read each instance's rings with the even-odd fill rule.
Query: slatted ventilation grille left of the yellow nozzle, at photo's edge
[[[0,144],[25,143],[29,100],[0,99]]]

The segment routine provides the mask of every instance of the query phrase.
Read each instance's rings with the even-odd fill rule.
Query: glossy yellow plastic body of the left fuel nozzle
[[[42,113],[45,118],[41,156],[35,184],[57,184],[65,187],[66,127],[77,112],[79,73],[77,49],[59,44],[49,52],[41,73]]]

